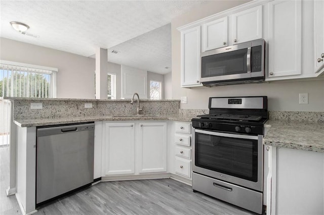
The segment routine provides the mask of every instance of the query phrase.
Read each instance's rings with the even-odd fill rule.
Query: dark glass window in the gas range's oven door
[[[195,166],[258,180],[258,140],[195,133]]]

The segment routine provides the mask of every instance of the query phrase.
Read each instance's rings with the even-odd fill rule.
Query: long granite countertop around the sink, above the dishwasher
[[[28,119],[15,120],[15,124],[20,127],[48,126],[68,123],[83,123],[93,121],[134,121],[134,120],[170,120],[190,122],[192,116],[184,115],[141,115],[141,116],[87,116],[87,117],[65,117],[65,118],[43,118],[43,119]]]

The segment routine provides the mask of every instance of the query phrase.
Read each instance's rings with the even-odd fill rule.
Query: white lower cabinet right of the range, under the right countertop
[[[324,214],[324,154],[267,147],[267,214]]]

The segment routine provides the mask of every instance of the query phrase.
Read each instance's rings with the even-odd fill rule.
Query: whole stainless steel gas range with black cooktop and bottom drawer
[[[267,97],[210,97],[192,119],[192,189],[261,214]]]

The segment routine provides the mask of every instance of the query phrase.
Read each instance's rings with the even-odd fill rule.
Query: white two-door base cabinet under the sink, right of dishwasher
[[[167,172],[166,122],[104,122],[102,177]]]

